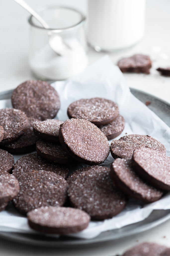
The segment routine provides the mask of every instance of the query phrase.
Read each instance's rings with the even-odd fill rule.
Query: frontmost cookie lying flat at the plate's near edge
[[[69,234],[87,228],[90,216],[70,207],[41,207],[28,212],[29,226],[39,232],[48,234]]]

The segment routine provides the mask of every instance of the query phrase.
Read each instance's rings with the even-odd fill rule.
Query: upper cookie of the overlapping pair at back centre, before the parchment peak
[[[68,106],[69,118],[80,118],[95,125],[111,123],[119,115],[119,107],[111,100],[103,98],[81,99]]]

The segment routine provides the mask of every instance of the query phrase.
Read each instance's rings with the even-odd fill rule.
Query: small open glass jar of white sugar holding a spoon
[[[35,77],[64,80],[82,72],[88,63],[85,16],[76,9],[56,5],[37,12],[50,28],[29,17],[29,63]]]

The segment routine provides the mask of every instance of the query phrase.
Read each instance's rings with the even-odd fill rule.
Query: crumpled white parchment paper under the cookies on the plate
[[[140,79],[140,78],[139,78]],[[61,109],[57,119],[67,120],[67,108],[70,103],[81,98],[103,97],[115,101],[120,108],[120,114],[126,121],[120,138],[127,134],[151,135],[162,142],[170,155],[170,128],[143,103],[131,93],[117,66],[114,66],[108,56],[103,57],[82,74],[66,81],[53,83],[59,93]],[[0,108],[11,107],[10,100],[1,100]],[[116,139],[117,139],[116,138]],[[110,141],[111,142],[111,141]],[[15,161],[21,156],[14,156]],[[111,154],[102,164],[110,166],[113,162]],[[76,166],[77,169],[83,165]],[[147,218],[153,209],[170,209],[170,193],[152,204],[142,204],[130,200],[126,208],[112,219],[91,221],[88,228],[71,236],[79,238],[94,238],[102,231],[121,228]],[[27,218],[17,212],[12,204],[0,212],[0,231],[35,233],[27,224]]]

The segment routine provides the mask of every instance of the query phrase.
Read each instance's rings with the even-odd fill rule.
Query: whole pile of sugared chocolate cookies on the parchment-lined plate
[[[56,90],[47,82],[30,80],[14,90],[12,105],[14,109],[0,110],[0,177],[10,192],[5,197],[0,185],[0,209],[13,199],[31,228],[43,233],[79,232],[90,219],[120,213],[130,197],[153,202],[163,190],[170,190],[170,158],[159,141],[132,134],[113,140],[110,147],[108,140],[125,126],[113,101],[75,101],[67,110],[70,119],[63,122],[53,119],[60,108]],[[10,153],[35,148],[37,153],[14,164]],[[101,166],[110,151],[116,160],[110,168]],[[89,166],[70,174],[70,166],[77,163]]]

